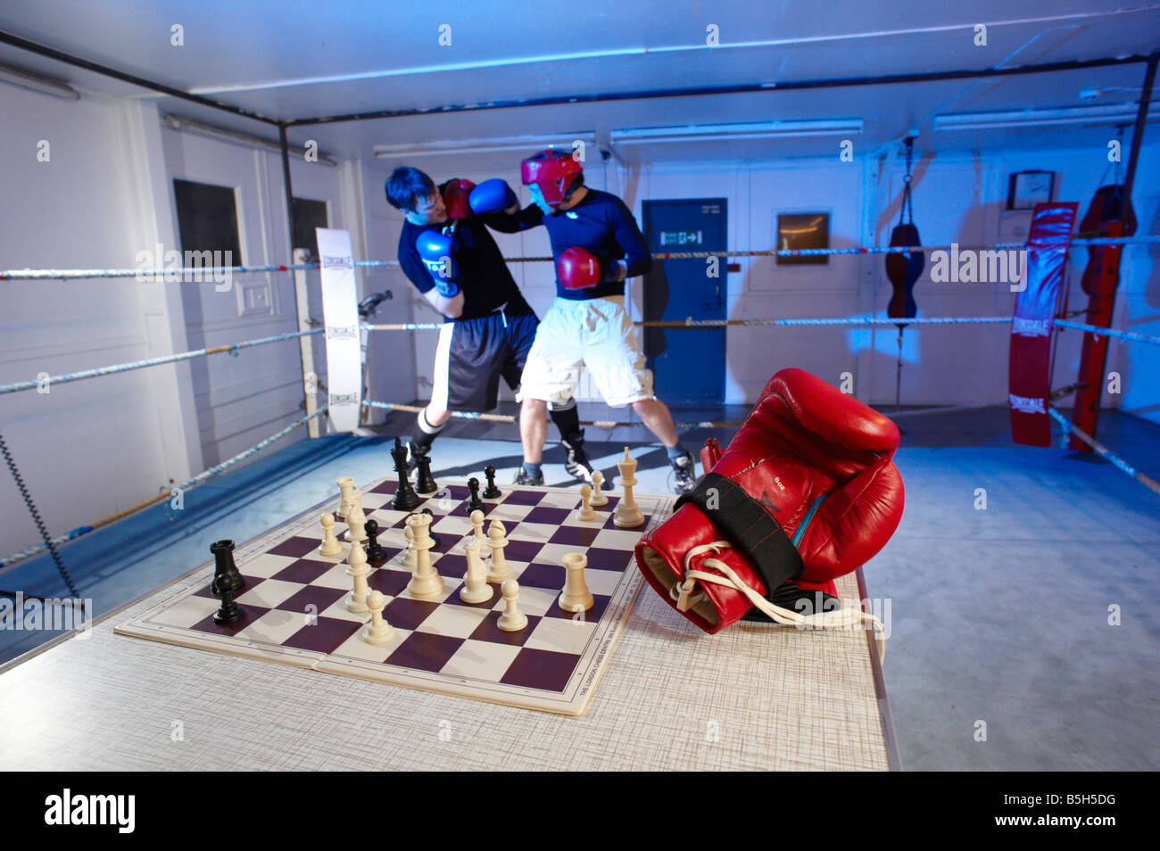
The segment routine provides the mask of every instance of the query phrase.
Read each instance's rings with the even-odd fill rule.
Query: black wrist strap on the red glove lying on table
[[[705,473],[696,488],[676,501],[673,510],[686,502],[699,508],[733,548],[749,559],[766,585],[767,598],[771,599],[778,585],[805,569],[781,523],[732,479]]]

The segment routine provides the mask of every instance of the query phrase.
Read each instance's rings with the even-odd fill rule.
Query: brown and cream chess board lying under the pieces
[[[240,620],[213,623],[218,599],[209,590],[213,575],[209,561],[197,572],[203,582],[115,632],[477,700],[583,714],[640,588],[633,547],[669,515],[673,497],[637,495],[645,523],[625,530],[612,524],[618,501],[614,493],[608,494],[607,505],[596,509],[597,519],[583,522],[577,516],[579,488],[501,486],[502,495],[488,501],[484,514],[488,523],[500,519],[507,530],[503,552],[520,583],[520,611],[528,617],[527,628],[503,632],[496,626],[503,611],[498,583],[490,585],[491,599],[483,603],[459,598],[467,568],[464,544],[472,537],[466,486],[444,486],[415,509],[432,510],[430,531],[438,538],[430,555],[445,588],[430,599],[416,599],[406,590],[411,570],[403,566],[403,530],[409,512],[391,508],[396,487],[387,478],[362,488],[363,511],[378,523],[378,543],[385,550],[383,558],[369,562],[374,569],[367,581],[387,599],[383,616],[394,630],[389,643],[364,641],[360,633],[370,616],[346,609],[353,588],[346,573],[349,545],[343,541],[341,555],[319,554],[319,519],[324,511],[335,511],[336,496],[234,550],[234,562],[246,580],[235,596],[245,610]],[[343,540],[347,526],[336,519],[334,531]],[[567,553],[588,558],[585,579],[595,605],[587,612],[565,612],[558,604],[565,575],[561,558]]]

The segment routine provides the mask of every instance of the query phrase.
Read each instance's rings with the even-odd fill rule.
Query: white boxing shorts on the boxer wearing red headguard
[[[585,366],[614,408],[654,398],[623,296],[557,298],[536,328],[520,398],[563,405],[575,395]]]

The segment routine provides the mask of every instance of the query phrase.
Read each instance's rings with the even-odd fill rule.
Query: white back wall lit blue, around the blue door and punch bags
[[[922,146],[920,145],[921,150]],[[1160,144],[1141,151],[1137,174],[1139,233],[1158,230]],[[1079,201],[1080,217],[1107,167],[1103,151],[1039,151],[1012,155],[925,155],[915,166],[914,217],[925,245],[963,246],[1018,241],[1010,235],[1013,217],[1003,214],[1007,177],[1012,172],[1047,169],[1058,173],[1056,198]],[[795,160],[705,165],[666,162],[624,170],[622,191],[638,221],[640,201],[725,196],[728,201],[731,250],[773,246],[780,212],[819,210],[831,213],[831,245],[886,245],[898,221],[901,162],[868,158],[854,162]],[[614,188],[614,191],[616,189]],[[1017,218],[1017,217],[1015,217]],[[1023,216],[1027,220],[1029,217]],[[1025,237],[1024,237],[1025,239]],[[1160,334],[1158,249],[1125,252],[1116,326]],[[1071,307],[1086,304],[1080,274],[1085,250],[1071,255]],[[892,288],[882,255],[833,256],[827,266],[778,267],[773,257],[741,259],[741,271],[728,275],[731,319],[844,317],[885,314]],[[1010,317],[1015,294],[1006,284],[936,284],[930,262],[914,289],[920,317]],[[640,303],[640,286],[632,288]],[[904,405],[1001,403],[1007,395],[1009,327],[943,326],[908,328],[904,334],[900,399]],[[679,332],[670,335],[670,341]],[[892,403],[896,392],[898,335],[890,329],[742,327],[727,332],[726,401],[752,402],[778,369],[799,366],[838,384],[853,372],[855,393],[873,405]],[[1075,380],[1082,335],[1059,337],[1053,386]],[[1124,376],[1123,405],[1157,416],[1160,357],[1154,347],[1114,344],[1109,370]],[[1066,402],[1065,402],[1066,403]],[[1148,413],[1151,410],[1151,413]]]

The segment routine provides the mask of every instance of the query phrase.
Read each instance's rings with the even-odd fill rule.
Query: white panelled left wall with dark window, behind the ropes
[[[135,101],[67,102],[0,86],[0,190],[8,202],[0,208],[0,268],[132,269],[138,252],[158,242],[180,248],[174,177],[234,188],[247,263],[289,260],[277,154],[162,130],[155,107]],[[46,162],[37,160],[41,140],[50,145]],[[291,166],[295,195],[325,201],[333,227],[354,224],[362,256],[362,205],[350,197],[358,170],[300,159]],[[0,383],[296,329],[285,272],[237,276],[227,292],[132,278],[6,282]],[[253,445],[300,417],[302,401],[298,343],[285,342],[6,394],[0,431],[57,536]],[[304,437],[299,430],[284,441]],[[0,553],[38,543],[7,470],[0,511],[7,518]]]

